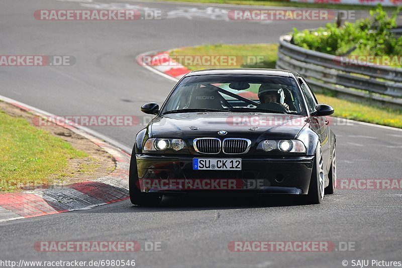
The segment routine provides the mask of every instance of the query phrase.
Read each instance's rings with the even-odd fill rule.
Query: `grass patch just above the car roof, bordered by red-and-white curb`
[[[275,68],[277,44],[250,44],[250,45],[202,45],[195,47],[186,47],[172,50],[170,56],[189,56],[190,65],[186,65],[181,58],[175,58],[176,61],[185,65],[191,71],[211,68]],[[220,65],[199,65],[195,56],[221,56],[228,60],[230,56],[234,59],[228,64],[225,61],[219,62]],[[208,63],[208,62],[207,62]]]

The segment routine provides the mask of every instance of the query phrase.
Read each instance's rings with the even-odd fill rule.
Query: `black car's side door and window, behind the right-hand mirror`
[[[318,101],[316,96],[314,96],[313,92],[311,91],[307,82],[302,78],[298,77],[298,82],[302,87],[303,95],[305,96],[310,113],[316,111],[316,105]],[[310,116],[310,125],[311,129],[315,131],[318,136],[320,137],[321,142],[321,150],[323,152],[323,160],[324,160],[324,168],[328,174],[329,170],[329,163],[330,163],[330,155],[331,155],[331,135],[329,129],[329,121],[327,120],[326,116]]]

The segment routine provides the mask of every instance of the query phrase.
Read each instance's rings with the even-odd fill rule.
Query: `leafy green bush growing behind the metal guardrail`
[[[402,37],[397,38],[391,29],[396,27],[398,7],[392,16],[382,10],[381,5],[370,11],[370,18],[355,23],[346,22],[342,27],[327,24],[310,32],[293,29],[292,43],[314,51],[332,55],[402,55]]]

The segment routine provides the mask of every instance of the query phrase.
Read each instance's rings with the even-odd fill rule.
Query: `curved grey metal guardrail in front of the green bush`
[[[402,68],[344,65],[340,57],[290,44],[290,39],[279,39],[276,68],[303,75],[316,92],[402,109]]]

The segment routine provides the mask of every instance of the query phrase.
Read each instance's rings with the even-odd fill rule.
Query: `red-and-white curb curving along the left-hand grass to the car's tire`
[[[38,116],[45,116],[39,109],[24,105],[21,102],[6,97],[0,99],[24,111]],[[66,124],[68,123],[59,122],[59,125],[88,139],[112,155],[116,162],[115,170],[107,176],[99,177],[92,181],[67,186],[54,186],[53,188],[37,188],[19,193],[0,194],[0,222],[89,209],[129,198],[130,154],[90,135],[82,129]]]

